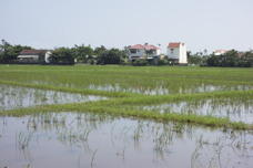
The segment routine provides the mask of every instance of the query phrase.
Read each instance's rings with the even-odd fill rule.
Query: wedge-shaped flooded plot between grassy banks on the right
[[[160,113],[181,113],[227,117],[233,122],[253,124],[253,99],[202,99],[139,107]]]

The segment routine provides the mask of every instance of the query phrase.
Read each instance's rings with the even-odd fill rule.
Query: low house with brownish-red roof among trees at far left
[[[50,50],[23,50],[18,56],[19,63],[50,63]]]

